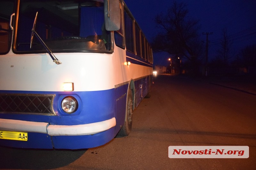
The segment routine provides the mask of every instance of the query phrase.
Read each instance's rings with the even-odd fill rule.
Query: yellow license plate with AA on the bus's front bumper
[[[1,131],[0,139],[28,141],[28,132]]]

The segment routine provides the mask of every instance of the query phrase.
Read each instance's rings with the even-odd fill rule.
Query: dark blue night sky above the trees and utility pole
[[[154,19],[157,14],[166,12],[172,0],[124,0],[139,23],[149,42],[156,35]],[[209,59],[214,58],[222,30],[226,27],[228,36],[233,39],[232,53],[242,47],[256,44],[256,1],[255,0],[177,0],[187,4],[188,16],[199,20],[198,31],[212,32],[209,35]],[[201,34],[205,42],[206,35]],[[169,55],[169,54],[165,54]],[[157,56],[157,54],[155,54]],[[166,56],[168,57],[168,56]],[[155,58],[156,59],[156,58]],[[156,61],[156,60],[155,60]]]

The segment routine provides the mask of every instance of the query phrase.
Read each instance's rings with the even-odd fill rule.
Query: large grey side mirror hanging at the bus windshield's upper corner
[[[118,31],[121,23],[119,0],[104,1],[104,19],[107,31]]]

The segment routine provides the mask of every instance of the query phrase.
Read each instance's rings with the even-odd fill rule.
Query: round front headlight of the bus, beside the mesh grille
[[[64,112],[70,114],[76,111],[78,103],[72,96],[67,96],[61,101],[61,108]]]

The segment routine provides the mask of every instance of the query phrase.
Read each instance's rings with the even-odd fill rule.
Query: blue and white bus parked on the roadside
[[[152,64],[123,0],[1,0],[0,145],[80,149],[129,135]]]

